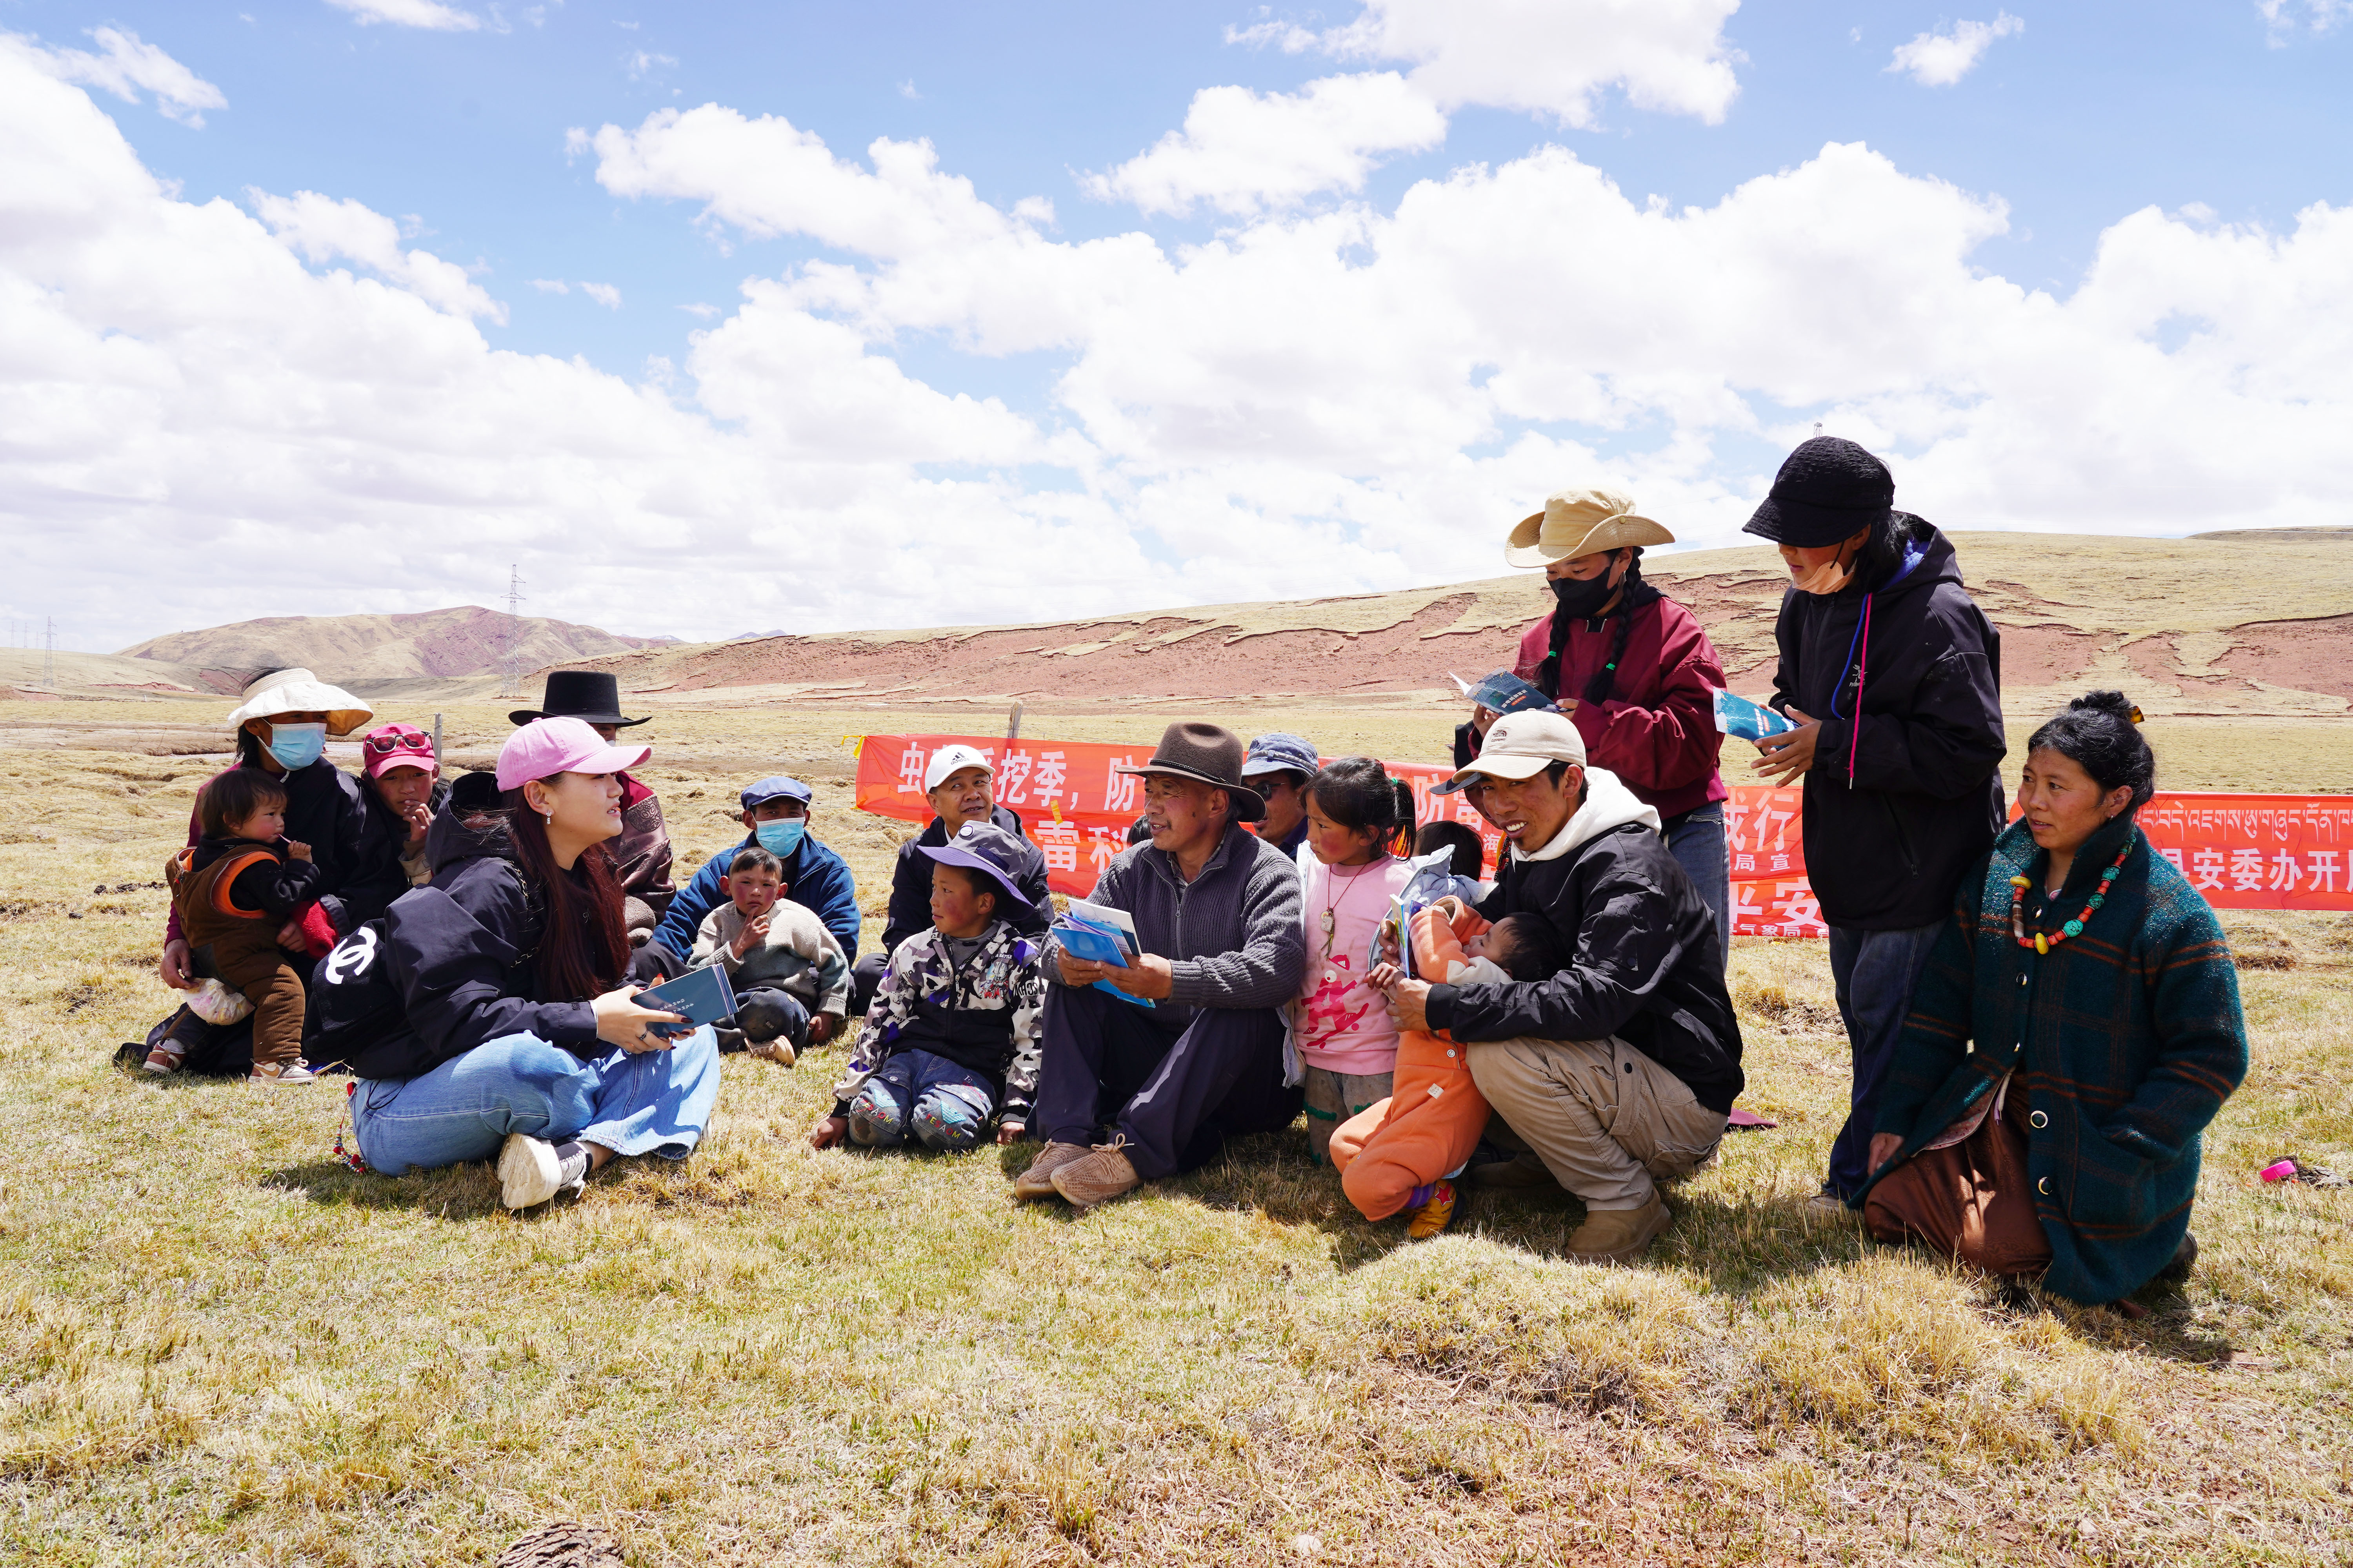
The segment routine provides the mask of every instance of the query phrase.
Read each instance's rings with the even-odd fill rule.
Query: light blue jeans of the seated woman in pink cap
[[[360,1079],[351,1126],[369,1171],[405,1175],[489,1159],[508,1133],[685,1159],[720,1098],[720,1044],[694,1030],[668,1051],[579,1058],[506,1034],[414,1079]]]

